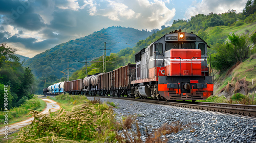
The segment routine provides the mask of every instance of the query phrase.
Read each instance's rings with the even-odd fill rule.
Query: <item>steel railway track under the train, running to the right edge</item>
[[[166,101],[143,100],[143,99],[132,99],[132,98],[99,97],[99,96],[93,96],[93,97],[132,100],[132,101],[139,101],[139,102],[146,102],[146,103],[170,105],[170,106],[190,108],[190,109],[216,111],[216,112],[224,112],[224,113],[230,113],[230,114],[240,114],[240,115],[256,117],[255,105],[209,103],[209,102],[184,102],[183,103],[183,102],[166,102]]]

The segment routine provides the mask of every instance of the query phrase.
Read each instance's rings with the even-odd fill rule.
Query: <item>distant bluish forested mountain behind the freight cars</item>
[[[75,70],[84,64],[78,61],[92,60],[103,55],[104,42],[106,42],[107,55],[117,53],[125,47],[132,47],[139,40],[145,39],[152,32],[139,31],[133,28],[109,27],[94,32],[91,35],[70,40],[66,43],[56,45],[50,50],[42,52],[27,60],[24,66],[30,67],[36,77],[57,76],[63,77],[60,71],[68,66]]]

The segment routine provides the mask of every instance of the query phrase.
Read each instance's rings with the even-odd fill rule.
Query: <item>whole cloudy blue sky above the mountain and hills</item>
[[[0,0],[0,43],[34,57],[55,45],[112,26],[172,26],[201,14],[242,12],[247,0]]]

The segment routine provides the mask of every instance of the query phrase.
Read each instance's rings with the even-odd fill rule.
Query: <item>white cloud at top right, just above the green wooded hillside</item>
[[[242,12],[247,0],[202,0],[201,3],[194,3],[190,6],[185,13],[185,17],[189,19],[191,16],[197,14],[209,14],[210,12],[213,13],[225,13],[228,10],[234,9],[237,12]]]

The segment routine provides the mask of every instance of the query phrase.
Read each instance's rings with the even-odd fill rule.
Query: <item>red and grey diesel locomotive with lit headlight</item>
[[[131,95],[164,100],[205,100],[213,93],[207,43],[193,33],[165,34],[135,55]]]

